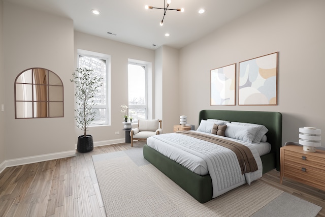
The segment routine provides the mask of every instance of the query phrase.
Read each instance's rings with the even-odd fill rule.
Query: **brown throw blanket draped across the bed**
[[[258,170],[256,161],[255,161],[255,158],[254,158],[252,152],[245,145],[242,145],[238,142],[222,139],[222,138],[217,138],[214,136],[203,135],[203,134],[193,132],[193,131],[177,131],[176,133],[183,134],[186,136],[191,136],[191,137],[194,137],[197,139],[208,141],[208,142],[211,142],[211,143],[214,143],[217,145],[221,145],[223,147],[231,149],[232,151],[235,152],[235,154],[237,156],[242,174],[254,172],[254,171]]]

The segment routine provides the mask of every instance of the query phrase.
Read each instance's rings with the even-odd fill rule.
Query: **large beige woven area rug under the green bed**
[[[107,216],[315,216],[321,208],[258,181],[201,204],[146,161],[142,148],[92,158]]]

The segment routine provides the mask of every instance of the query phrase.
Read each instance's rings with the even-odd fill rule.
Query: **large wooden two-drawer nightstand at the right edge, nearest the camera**
[[[325,151],[304,151],[302,146],[288,145],[280,149],[280,183],[283,177],[325,191]]]

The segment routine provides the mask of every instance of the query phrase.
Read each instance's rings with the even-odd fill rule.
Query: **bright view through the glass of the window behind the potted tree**
[[[95,105],[93,106],[92,110],[96,113],[96,115],[91,125],[107,124],[107,60],[105,58],[79,55],[79,68],[92,69],[96,76],[103,78],[101,91],[93,98]]]

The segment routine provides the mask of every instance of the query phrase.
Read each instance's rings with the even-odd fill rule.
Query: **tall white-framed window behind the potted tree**
[[[90,126],[109,125],[110,56],[78,49],[78,68],[92,69],[96,76],[103,78],[101,91],[94,97],[95,105],[92,110],[96,112],[96,115]]]

